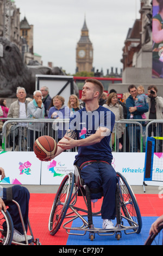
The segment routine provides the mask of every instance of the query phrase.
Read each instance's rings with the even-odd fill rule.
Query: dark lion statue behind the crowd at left
[[[36,62],[23,63],[22,54],[15,44],[0,37],[3,45],[3,57],[0,57],[0,97],[16,97],[16,88],[26,89],[27,96],[32,97],[35,90],[35,75],[65,75],[58,67],[49,68]],[[74,93],[78,87],[74,83]]]

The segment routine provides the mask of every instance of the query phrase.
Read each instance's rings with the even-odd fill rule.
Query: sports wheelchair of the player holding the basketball
[[[111,229],[95,228],[93,216],[101,216],[101,209],[92,212],[91,193],[89,187],[84,185],[80,177],[80,170],[74,166],[74,174],[69,173],[62,180],[55,196],[51,214],[49,216],[48,229],[51,235],[55,235],[62,222],[67,234],[85,235],[89,232],[89,239],[93,241],[95,234],[114,235],[117,240],[121,238],[121,231],[125,234],[139,234],[142,228],[141,214],[136,198],[130,185],[124,176],[116,173],[118,178],[116,190],[116,225]],[[83,197],[85,209],[78,207],[78,198]],[[82,199],[82,198],[81,198]],[[100,200],[100,199],[98,199]],[[66,219],[70,218],[67,222]],[[80,227],[72,227],[72,222],[79,218],[82,221]],[[65,220],[64,220],[65,219]],[[123,220],[125,223],[123,224]],[[80,231],[80,232],[79,232]]]

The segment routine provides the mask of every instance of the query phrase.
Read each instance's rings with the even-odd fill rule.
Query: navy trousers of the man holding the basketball
[[[101,208],[102,218],[114,220],[116,216],[115,193],[118,182],[115,169],[109,163],[95,162],[87,164],[80,172],[84,183],[90,189],[102,186],[104,196]],[[99,199],[101,197],[101,192],[91,194],[91,199]]]

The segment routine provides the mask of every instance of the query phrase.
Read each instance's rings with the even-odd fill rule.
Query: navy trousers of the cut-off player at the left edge
[[[19,185],[12,186],[12,199],[14,199],[20,205],[26,231],[28,229],[29,198],[30,193],[26,187]],[[7,188],[3,188],[3,200],[4,203],[7,200]],[[21,234],[24,234],[17,205],[12,202],[8,202],[7,205],[9,206],[8,212],[11,215],[14,228]]]

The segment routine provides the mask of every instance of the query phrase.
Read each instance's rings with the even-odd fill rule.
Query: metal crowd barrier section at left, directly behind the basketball
[[[30,125],[33,124],[33,130]],[[37,126],[39,125],[39,129]],[[69,119],[9,119],[1,133],[2,151],[33,151],[37,137],[48,135],[59,141],[68,129]],[[55,130],[54,130],[55,129]]]

